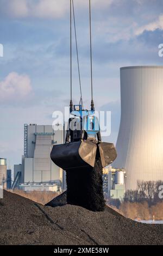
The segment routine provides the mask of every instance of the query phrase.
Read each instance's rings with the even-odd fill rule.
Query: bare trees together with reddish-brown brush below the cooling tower
[[[152,220],[153,215],[155,220],[163,220],[163,198],[160,195],[163,196],[163,181],[139,180],[136,190],[127,190],[123,201],[108,198],[107,203],[123,216],[133,220]]]

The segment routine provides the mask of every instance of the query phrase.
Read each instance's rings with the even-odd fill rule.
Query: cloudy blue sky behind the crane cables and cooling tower
[[[90,106],[88,0],[74,0],[83,98]],[[21,162],[23,124],[52,124],[52,113],[69,104],[68,0],[0,0],[0,157]],[[120,124],[120,67],[162,65],[163,1],[92,0],[95,107],[111,111],[111,135]],[[73,102],[79,100],[73,40]],[[77,101],[75,101],[77,99]]]

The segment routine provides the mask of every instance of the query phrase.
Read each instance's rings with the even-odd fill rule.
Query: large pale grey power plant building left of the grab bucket
[[[63,143],[63,129],[53,131],[52,125],[24,125],[22,164],[14,166],[14,180],[23,190],[58,191],[62,169],[51,161],[53,145]]]

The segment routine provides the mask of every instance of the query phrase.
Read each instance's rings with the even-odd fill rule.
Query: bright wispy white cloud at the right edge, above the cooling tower
[[[136,35],[142,34],[144,31],[155,31],[155,29],[163,29],[163,15],[160,15],[159,18],[154,21],[150,22],[145,26],[141,26],[135,32]]]

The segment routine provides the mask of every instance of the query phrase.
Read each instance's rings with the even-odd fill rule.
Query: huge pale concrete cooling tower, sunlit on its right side
[[[137,180],[163,180],[163,66],[121,68],[121,123],[114,167]]]

